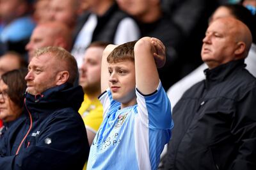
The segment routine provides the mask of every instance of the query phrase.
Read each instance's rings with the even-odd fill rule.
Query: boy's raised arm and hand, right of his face
[[[156,91],[157,68],[165,63],[165,47],[157,38],[143,37],[134,46],[136,86],[143,95]]]

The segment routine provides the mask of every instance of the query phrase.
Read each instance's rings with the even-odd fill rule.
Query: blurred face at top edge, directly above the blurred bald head
[[[73,0],[52,0],[51,19],[58,20],[73,27],[76,24],[77,10]]]

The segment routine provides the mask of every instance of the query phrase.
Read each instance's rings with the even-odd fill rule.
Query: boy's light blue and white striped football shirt
[[[100,96],[104,120],[90,148],[87,169],[157,169],[173,127],[170,101],[159,83],[156,93],[120,109],[108,89]]]

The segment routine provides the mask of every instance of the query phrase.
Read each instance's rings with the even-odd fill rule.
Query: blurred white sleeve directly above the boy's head
[[[140,38],[140,29],[136,22],[129,17],[121,20],[116,29],[114,43],[120,45],[138,38]]]

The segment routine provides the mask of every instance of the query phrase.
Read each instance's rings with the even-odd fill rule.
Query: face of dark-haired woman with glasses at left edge
[[[0,119],[8,122],[13,121],[20,115],[20,108],[12,102],[7,94],[8,86],[0,81]]]

